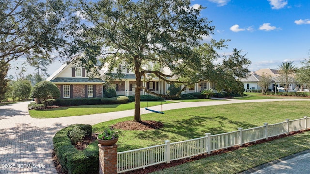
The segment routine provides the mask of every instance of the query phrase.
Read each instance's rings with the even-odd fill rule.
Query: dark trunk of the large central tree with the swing
[[[141,122],[141,74],[139,72],[139,69],[135,70],[135,75],[136,75],[136,88],[135,88],[135,116],[134,120],[135,122]]]

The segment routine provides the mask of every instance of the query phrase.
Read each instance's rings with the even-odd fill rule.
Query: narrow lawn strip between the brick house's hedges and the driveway
[[[156,106],[160,104],[174,103],[172,101],[149,101],[148,106]],[[81,116],[98,113],[108,113],[115,111],[124,111],[134,109],[134,102],[127,104],[110,104],[110,105],[84,105],[84,106],[70,106],[60,107],[47,110],[29,110],[29,114],[33,118],[59,118],[66,116]],[[147,106],[147,102],[141,102],[141,108]]]

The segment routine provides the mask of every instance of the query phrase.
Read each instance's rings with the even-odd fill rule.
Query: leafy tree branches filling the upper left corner
[[[1,0],[0,68],[20,57],[51,58],[65,43],[61,30],[66,9],[62,0]]]

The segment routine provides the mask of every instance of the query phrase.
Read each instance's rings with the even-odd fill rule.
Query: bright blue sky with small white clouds
[[[202,5],[202,17],[215,26],[213,39],[230,39],[233,48],[243,50],[251,60],[251,71],[261,68],[278,69],[284,61],[309,59],[310,53],[310,0],[192,0],[192,5]],[[25,60],[11,62],[20,66]],[[55,61],[49,68],[52,74],[61,66]],[[26,74],[33,73],[28,67]],[[31,70],[32,69],[32,70]],[[9,74],[16,76],[11,69]]]

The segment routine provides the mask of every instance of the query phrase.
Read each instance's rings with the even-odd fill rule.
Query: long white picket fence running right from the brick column
[[[204,137],[186,141],[170,143],[169,140],[166,140],[165,144],[162,145],[118,152],[117,173],[145,168],[160,163],[170,163],[172,160],[184,159],[203,153],[210,154],[214,150],[236,145],[242,146],[245,143],[308,128],[310,128],[310,117],[304,116],[301,119],[286,119],[284,122],[271,125],[264,123],[263,126],[245,130],[238,128],[238,131],[229,133],[217,135],[206,133]]]

